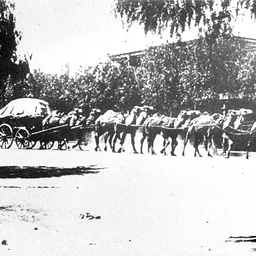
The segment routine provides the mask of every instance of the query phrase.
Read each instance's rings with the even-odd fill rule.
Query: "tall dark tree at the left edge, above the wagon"
[[[14,9],[14,4],[0,0],[0,105],[2,106],[5,104],[7,85],[15,84],[14,91],[19,91],[29,73],[28,60],[18,60],[16,54],[21,32],[15,28]]]

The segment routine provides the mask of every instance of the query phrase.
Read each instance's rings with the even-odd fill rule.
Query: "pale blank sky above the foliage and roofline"
[[[22,32],[18,54],[32,55],[30,68],[61,74],[96,65],[108,54],[143,50],[166,42],[145,36],[135,25],[127,32],[113,13],[113,0],[14,0],[16,29]],[[256,25],[244,17],[236,26],[240,36],[256,38]],[[183,40],[193,37],[189,32]]]

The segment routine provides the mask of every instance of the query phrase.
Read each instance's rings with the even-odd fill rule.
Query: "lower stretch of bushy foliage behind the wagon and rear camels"
[[[141,102],[135,68],[128,63],[107,62],[80,70],[74,77],[34,71],[28,80],[27,97],[44,99],[53,109],[68,112],[80,107],[85,113],[91,108],[131,110]],[[9,100],[13,98],[10,97]]]

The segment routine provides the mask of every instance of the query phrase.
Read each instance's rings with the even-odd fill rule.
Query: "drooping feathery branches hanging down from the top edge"
[[[138,22],[145,33],[161,34],[169,29],[170,36],[179,35],[187,28],[197,27],[210,41],[220,34],[230,33],[230,24],[243,11],[256,17],[253,0],[116,0],[116,15],[131,26]],[[203,30],[202,30],[203,29]]]

